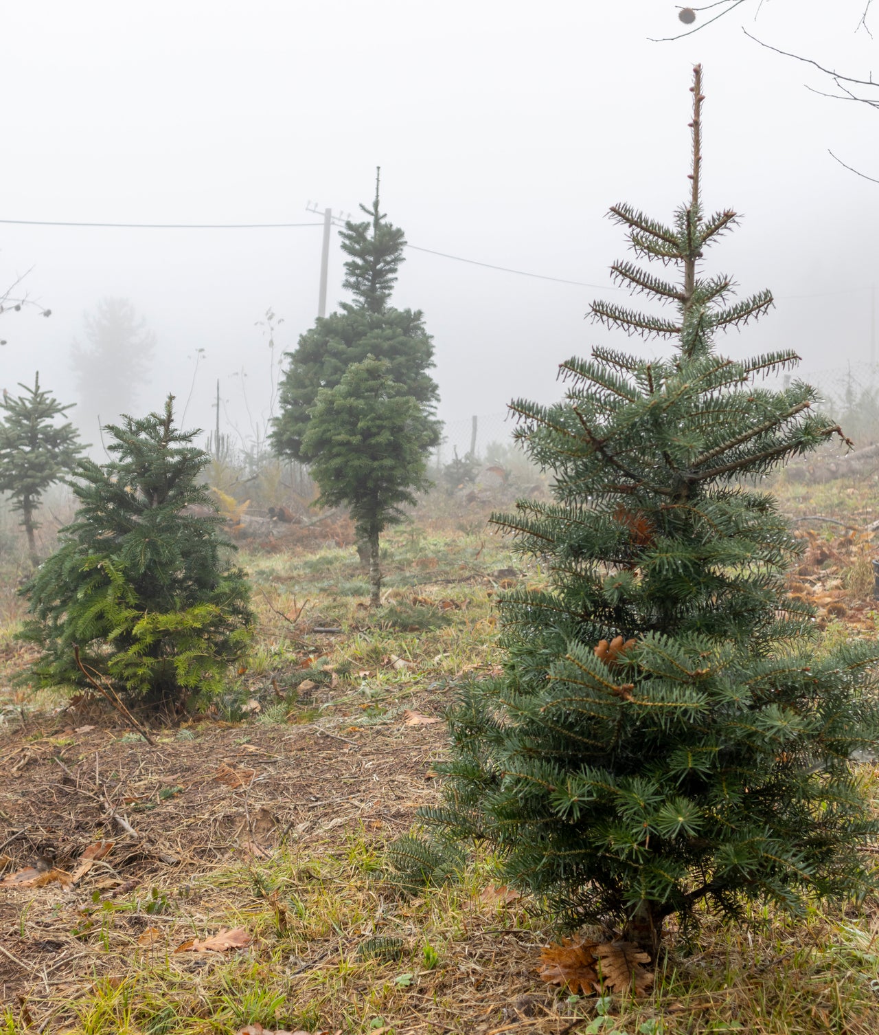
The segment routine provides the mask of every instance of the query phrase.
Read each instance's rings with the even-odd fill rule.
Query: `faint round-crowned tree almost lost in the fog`
[[[79,425],[93,435],[134,409],[149,373],[155,334],[127,298],[103,298],[84,317],[85,344],[74,342],[70,365],[80,396]],[[93,431],[94,430],[94,431]]]

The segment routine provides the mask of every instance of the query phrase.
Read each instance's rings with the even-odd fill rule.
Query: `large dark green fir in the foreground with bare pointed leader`
[[[596,348],[562,365],[565,402],[512,404],[554,501],[492,521],[550,584],[502,601],[504,675],[452,711],[447,803],[424,814],[493,846],[563,924],[614,924],[654,955],[664,920],[695,923],[699,904],[736,917],[862,894],[879,832],[850,762],[879,733],[879,649],[816,649],[785,591],[798,542],[755,487],[842,433],[809,385],[759,384],[795,353],[716,348],[771,296],[735,301],[702,270],[736,216],[702,210],[698,66],[693,93],[689,201],[670,225],[611,209],[636,256],[677,272],[618,262],[615,279],[672,315],[592,308],[672,354]]]

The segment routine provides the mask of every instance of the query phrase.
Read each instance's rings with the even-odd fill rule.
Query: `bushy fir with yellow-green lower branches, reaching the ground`
[[[73,649],[128,701],[179,707],[220,689],[226,668],[250,642],[253,615],[244,572],[223,554],[221,520],[200,480],[210,462],[198,431],[163,413],[124,417],[104,428],[113,459],[80,462],[80,502],[61,545],[24,589],[30,618],[23,639],[42,653],[42,685],[83,677]]]

